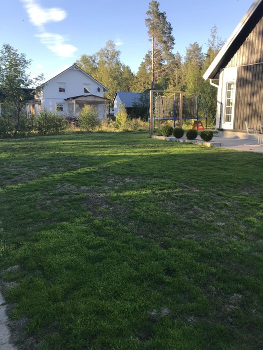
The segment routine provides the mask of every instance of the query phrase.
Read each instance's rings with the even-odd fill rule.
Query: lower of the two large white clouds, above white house
[[[45,31],[41,34],[36,34],[36,36],[40,37],[40,41],[58,56],[72,57],[73,53],[77,51],[77,47],[65,43],[66,39],[63,35]]]

